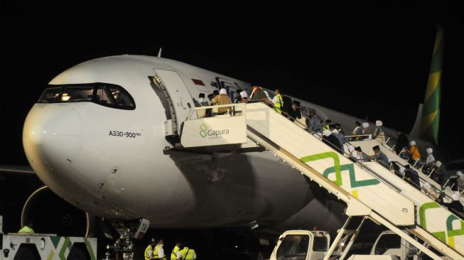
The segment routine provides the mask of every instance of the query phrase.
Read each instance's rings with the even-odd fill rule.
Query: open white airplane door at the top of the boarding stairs
[[[172,120],[172,134],[179,135],[182,122],[190,114],[190,108],[195,107],[190,92],[175,71],[155,69],[154,80],[156,85],[163,91],[166,99],[168,99]],[[168,125],[166,126],[169,127]]]

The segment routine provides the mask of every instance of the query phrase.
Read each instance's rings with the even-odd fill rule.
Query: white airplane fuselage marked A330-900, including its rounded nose
[[[152,227],[232,227],[253,221],[273,226],[298,212],[305,212],[301,217],[308,227],[317,222],[340,226],[343,206],[319,199],[318,187],[269,151],[166,153],[169,112],[151,81],[156,70],[178,74],[188,90],[183,97],[188,94],[190,100],[174,106],[187,113],[202,92],[251,90],[246,82],[164,58],[122,55],[71,67],[50,85],[119,85],[136,107],[35,104],[24,124],[23,146],[43,183],[92,215],[145,217]],[[327,207],[333,203],[338,206]]]

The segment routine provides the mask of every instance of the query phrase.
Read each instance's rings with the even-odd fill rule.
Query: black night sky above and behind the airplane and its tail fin
[[[157,2],[157,1],[156,1]],[[0,4],[1,164],[26,164],[23,121],[47,83],[107,55],[157,55],[411,130],[436,23],[446,28],[439,144],[463,158],[462,1],[143,6]],[[367,4],[369,3],[369,4]],[[174,3],[176,4],[176,3]],[[345,129],[351,131],[351,129]]]

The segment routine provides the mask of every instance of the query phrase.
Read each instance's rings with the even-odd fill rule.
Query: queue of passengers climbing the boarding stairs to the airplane
[[[227,91],[225,89],[221,89],[219,92],[215,92],[213,92],[212,96],[209,96],[212,105],[232,104],[232,100],[227,95]],[[313,108],[308,109],[307,116],[303,115],[300,107],[301,103],[297,100],[292,101],[289,97],[283,96],[282,90],[276,89],[272,99],[269,97],[269,93],[258,86],[253,86],[251,93],[243,90],[237,90],[235,94],[237,94],[237,96],[234,97],[234,103],[259,101],[269,104],[271,107],[274,107],[277,113],[282,114],[284,117],[290,119],[291,121],[296,121],[296,124],[301,126],[303,129],[311,131],[314,136],[328,144],[328,146],[332,147],[335,151],[338,151],[342,154],[344,153],[343,145],[347,142],[347,139],[345,138],[345,134],[342,131],[340,124],[333,124],[330,119],[325,120],[325,124],[323,124],[323,121],[320,119],[320,117],[318,117],[315,109]],[[291,103],[291,106],[288,105],[289,103]],[[204,106],[204,104],[207,105],[207,102],[203,101],[203,99],[199,97],[198,102],[195,102],[195,104]],[[213,114],[226,114],[231,110],[233,109],[230,109],[230,107],[219,107],[217,112],[213,112]],[[384,143],[385,134],[382,129],[383,122],[377,120],[375,122],[375,126],[376,128],[372,134],[372,139],[377,140],[379,143]],[[369,123],[355,121],[355,128],[351,134],[353,137],[349,140],[352,141],[359,141],[369,138],[368,136],[371,134]],[[416,141],[409,141],[406,134],[401,131],[396,131],[396,134],[397,141],[394,146],[394,151],[396,154],[406,159],[406,161],[408,161],[408,163],[410,163],[413,167],[422,167],[425,172],[429,170],[428,173],[432,173],[431,178],[436,180],[437,183],[440,183],[441,185],[446,183],[446,181],[449,179],[448,175],[446,174],[446,170],[441,168],[441,162],[435,161],[435,158],[432,154],[432,148],[427,149],[427,159],[425,162],[422,162],[421,153],[419,152],[419,148],[416,145]],[[386,167],[392,166],[390,164],[390,158],[388,158],[387,155],[380,150],[379,146],[372,147],[372,150],[374,155],[369,156],[364,151],[362,151],[362,148],[359,146],[348,146],[349,158],[351,158],[353,161],[360,162],[379,161],[379,163]],[[400,165],[397,166],[396,170],[401,173],[405,180],[411,183],[411,185],[421,189],[421,185],[419,183],[419,174],[414,168],[411,168],[411,166]],[[460,178],[462,178],[462,184],[464,186],[464,174],[462,177],[460,176]]]

